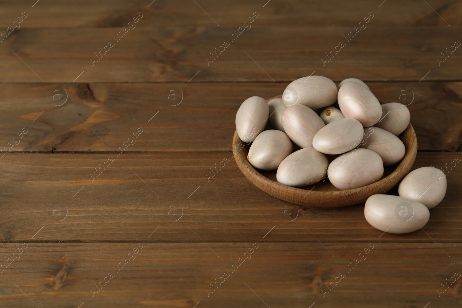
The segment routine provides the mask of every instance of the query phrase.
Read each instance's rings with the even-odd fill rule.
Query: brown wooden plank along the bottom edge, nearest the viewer
[[[314,302],[312,307],[328,308],[425,307],[429,302],[433,307],[456,307],[461,298],[460,278],[438,297],[438,290],[445,290],[441,284],[454,281],[454,274],[462,271],[460,243],[438,247],[371,241],[322,247],[317,242],[261,242],[260,236],[257,242],[210,243],[210,248],[204,243],[141,239],[25,245],[22,254],[15,254],[20,259],[1,273],[5,307],[78,307],[83,302],[81,307],[88,308],[306,308]],[[3,259],[21,246],[3,245]],[[252,254],[244,255],[252,247]],[[231,266],[243,257],[248,260],[240,259],[233,272]],[[345,275],[341,279],[340,272]],[[221,283],[212,289],[216,281]]]

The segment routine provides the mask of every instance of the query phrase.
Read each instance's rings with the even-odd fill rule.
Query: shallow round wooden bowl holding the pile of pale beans
[[[280,98],[282,95],[273,98]],[[269,102],[273,98],[267,100]],[[400,163],[384,167],[383,177],[379,181],[367,186],[339,190],[326,178],[314,185],[295,188],[280,184],[276,181],[276,170],[262,171],[255,169],[247,160],[250,145],[243,143],[237,131],[232,140],[233,153],[237,166],[242,173],[256,187],[265,193],[292,202],[310,207],[342,207],[365,202],[373,194],[388,192],[395,187],[411,169],[417,155],[417,137],[411,123],[406,130],[398,136],[406,147],[406,153]]]

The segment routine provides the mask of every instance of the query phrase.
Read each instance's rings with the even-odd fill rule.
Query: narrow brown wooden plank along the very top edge
[[[243,23],[249,17],[249,13],[251,15],[255,11],[261,13],[261,19],[254,25],[255,27],[332,26],[329,20],[335,26],[351,26],[359,23],[368,12],[372,11],[377,14],[373,20],[375,24],[446,27],[448,24],[445,21],[451,26],[461,25],[458,16],[462,12],[460,4],[451,0],[442,0],[438,3],[429,2],[432,6],[422,4],[422,1],[418,0],[401,3],[389,1],[380,7],[380,3],[372,4],[367,0],[357,0],[353,3],[338,0],[312,0],[312,4],[309,1],[286,0],[271,0],[269,3],[267,1],[253,3],[243,0],[220,2],[201,0],[196,1],[197,5],[192,1],[191,3],[149,0],[130,2],[80,0],[79,2],[63,3],[59,0],[47,0],[34,5],[35,1],[32,3],[30,1],[4,1],[0,12],[0,26],[5,29],[12,26],[12,22],[24,11],[27,12],[28,17],[20,24],[22,28],[101,27],[101,24],[104,27],[123,27],[138,12],[143,12],[146,16],[143,18],[146,18],[146,22],[153,27],[165,25],[215,26],[213,20],[220,27],[233,27]],[[432,7],[441,17],[433,11]]]

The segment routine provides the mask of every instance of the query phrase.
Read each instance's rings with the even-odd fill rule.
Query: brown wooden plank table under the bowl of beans
[[[460,1],[35,1],[0,5],[0,307],[461,307]],[[423,229],[239,171],[239,105],[310,74],[410,109]]]

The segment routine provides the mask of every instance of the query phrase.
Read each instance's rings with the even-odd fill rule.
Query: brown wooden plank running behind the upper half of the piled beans
[[[231,151],[240,104],[255,95],[279,95],[286,85],[6,84],[0,149],[112,152],[141,127],[140,138],[126,151]],[[461,82],[368,85],[379,99],[408,105],[419,150],[460,150]],[[13,141],[24,127],[27,133]]]

